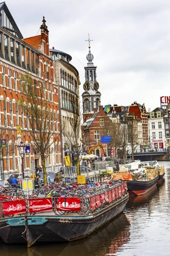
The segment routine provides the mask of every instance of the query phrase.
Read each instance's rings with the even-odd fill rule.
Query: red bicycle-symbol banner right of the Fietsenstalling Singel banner
[[[80,211],[80,198],[58,198],[57,210]]]

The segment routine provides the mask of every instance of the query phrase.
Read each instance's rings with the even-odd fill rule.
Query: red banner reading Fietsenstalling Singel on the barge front
[[[30,212],[50,212],[53,210],[51,198],[39,198],[29,200]]]

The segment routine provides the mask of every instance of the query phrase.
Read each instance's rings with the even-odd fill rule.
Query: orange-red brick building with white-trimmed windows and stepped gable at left
[[[5,177],[16,172],[19,152],[17,143],[22,139],[24,143],[34,143],[31,141],[28,120],[20,106],[17,104],[21,98],[20,85],[21,76],[29,71],[34,84],[41,81],[44,86],[45,100],[49,102],[49,109],[54,114],[55,134],[59,135],[59,107],[58,88],[54,79],[53,60],[50,57],[48,43],[48,29],[45,19],[40,26],[41,35],[33,38],[23,36],[14,22],[6,3],[0,4],[0,130],[2,139],[6,140],[6,151],[2,158],[1,153],[1,174]],[[38,40],[37,40],[38,38]],[[34,40],[35,39],[35,40]],[[35,44],[36,41],[36,44]],[[37,46],[38,45],[38,46]],[[37,85],[38,86],[38,85]],[[17,125],[21,126],[21,137],[17,137]],[[5,132],[4,132],[5,131]],[[48,157],[49,165],[59,166],[61,163],[60,143],[57,141],[56,150]],[[25,154],[24,168],[29,172],[30,161],[34,161],[35,166],[41,164],[40,155],[31,147],[31,153]]]

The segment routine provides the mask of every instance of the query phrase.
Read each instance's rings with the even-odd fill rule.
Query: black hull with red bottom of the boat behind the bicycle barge
[[[140,180],[126,180],[129,195],[144,195],[156,186],[159,176],[153,180],[140,181]]]

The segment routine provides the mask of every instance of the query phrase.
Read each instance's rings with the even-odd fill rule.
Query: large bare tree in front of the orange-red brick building
[[[59,142],[57,127],[57,111],[51,111],[49,101],[45,96],[43,81],[36,80],[26,73],[20,81],[22,98],[19,105],[27,117],[29,136],[33,140],[34,151],[40,154],[42,160],[44,185],[46,185],[45,159],[52,154]]]

